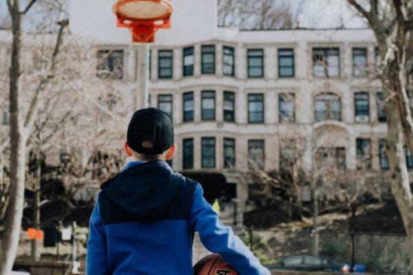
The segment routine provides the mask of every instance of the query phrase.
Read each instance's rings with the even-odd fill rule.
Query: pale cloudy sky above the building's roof
[[[85,0],[87,1],[87,0]],[[348,8],[346,0],[284,0],[299,14],[302,28],[363,28],[366,23]],[[7,13],[6,0],[0,0],[0,17]]]

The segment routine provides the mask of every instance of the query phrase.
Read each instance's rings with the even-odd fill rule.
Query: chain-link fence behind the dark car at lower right
[[[248,228],[240,236],[265,264],[292,255],[318,254],[337,263],[363,264],[368,272],[410,273],[410,245],[403,234],[320,231],[317,242],[311,231]]]

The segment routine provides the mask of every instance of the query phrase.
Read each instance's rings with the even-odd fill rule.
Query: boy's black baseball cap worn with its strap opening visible
[[[149,140],[153,148],[142,147]],[[127,144],[136,153],[160,155],[173,144],[171,115],[156,108],[140,109],[132,115],[127,128]]]

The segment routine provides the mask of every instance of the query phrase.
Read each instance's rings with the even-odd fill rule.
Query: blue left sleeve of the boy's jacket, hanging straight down
[[[98,200],[89,221],[89,239],[87,239],[86,274],[109,275],[106,236],[103,221],[99,215]]]

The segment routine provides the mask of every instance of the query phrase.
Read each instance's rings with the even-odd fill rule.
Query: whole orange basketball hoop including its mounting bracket
[[[132,42],[153,43],[155,32],[171,27],[169,0],[118,0],[114,4],[118,27],[132,32]]]

